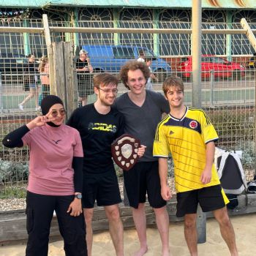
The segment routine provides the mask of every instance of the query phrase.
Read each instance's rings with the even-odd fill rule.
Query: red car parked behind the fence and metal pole
[[[214,78],[234,78],[239,79],[245,76],[245,67],[239,63],[227,61],[222,57],[214,55],[202,56],[202,78],[211,77],[213,70]],[[181,58],[177,69],[183,78],[192,78],[192,57]]]

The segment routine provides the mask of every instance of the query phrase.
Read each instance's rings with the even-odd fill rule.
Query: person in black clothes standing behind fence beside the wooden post
[[[91,62],[86,50],[80,50],[79,59],[76,62],[76,71],[78,74],[78,95],[79,102],[82,106],[87,104],[88,95],[94,94],[94,86],[91,83],[91,75],[94,68],[91,66]]]

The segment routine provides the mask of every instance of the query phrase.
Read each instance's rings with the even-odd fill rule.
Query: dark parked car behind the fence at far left
[[[27,65],[28,59],[23,54],[0,53],[1,75],[10,77],[10,75],[22,74]]]

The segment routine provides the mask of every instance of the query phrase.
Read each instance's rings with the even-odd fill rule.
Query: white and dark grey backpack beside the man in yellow
[[[241,151],[230,152],[216,148],[214,164],[217,167],[222,188],[230,200],[227,208],[234,209],[238,206],[237,195],[246,192],[247,189],[241,164]]]

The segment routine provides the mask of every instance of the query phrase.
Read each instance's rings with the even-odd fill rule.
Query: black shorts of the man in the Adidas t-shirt
[[[113,206],[121,203],[114,170],[94,176],[83,175],[83,208],[94,208],[95,200],[97,200],[97,206]]]

